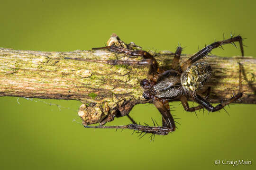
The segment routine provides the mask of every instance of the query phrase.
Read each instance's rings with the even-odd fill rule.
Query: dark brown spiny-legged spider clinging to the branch
[[[239,90],[238,93],[233,95],[228,100],[221,102],[217,106],[213,107],[207,99],[201,97],[197,92],[202,88],[206,81],[211,76],[211,67],[207,62],[197,62],[198,60],[205,57],[214,48],[221,47],[224,44],[231,43],[235,45],[234,42],[239,42],[240,50],[242,56],[244,56],[242,37],[231,34],[231,38],[224,39],[223,41],[213,42],[205,48],[201,49],[190,59],[185,61],[183,65],[179,65],[179,59],[182,52],[182,47],[178,46],[174,53],[174,59],[172,61],[172,69],[164,70],[159,68],[157,61],[154,56],[143,50],[129,50],[124,47],[111,45],[100,48],[93,48],[93,50],[108,49],[111,52],[124,53],[125,55],[131,57],[141,56],[143,59],[140,61],[129,61],[129,60],[106,60],[106,61],[96,61],[104,62],[110,65],[116,64],[127,64],[127,65],[149,65],[149,71],[147,73],[147,78],[140,82],[141,87],[144,89],[142,94],[146,100],[152,101],[155,107],[162,114],[162,126],[155,126],[154,120],[152,119],[154,126],[149,126],[147,124],[138,125],[133,119],[131,121],[133,124],[128,124],[125,126],[84,126],[89,128],[128,128],[137,130],[141,133],[151,133],[152,135],[167,135],[169,132],[173,132],[176,129],[175,121],[170,113],[170,107],[168,101],[170,99],[178,99],[182,102],[184,110],[195,111],[205,108],[210,112],[218,111],[224,109],[224,106],[229,105],[229,103],[238,100],[243,95],[242,90],[242,77],[241,77],[241,64],[239,64]],[[236,45],[235,45],[236,46]],[[74,59],[74,58],[66,58]],[[87,59],[79,59],[86,61],[93,61]],[[196,107],[189,107],[187,102],[187,95],[191,96],[193,100],[199,103]]]

